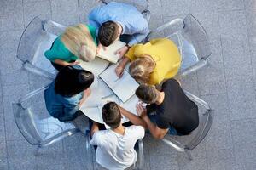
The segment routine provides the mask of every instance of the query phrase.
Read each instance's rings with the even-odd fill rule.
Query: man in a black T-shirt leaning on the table
[[[162,90],[141,85],[136,95],[147,109],[137,105],[137,111],[147,123],[155,139],[163,139],[166,133],[186,135],[198,127],[198,107],[183,92],[175,79],[163,83]]]

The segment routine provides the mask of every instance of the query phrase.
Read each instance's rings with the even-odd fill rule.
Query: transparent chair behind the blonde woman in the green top
[[[35,17],[23,31],[17,49],[17,58],[23,63],[23,68],[37,75],[55,78],[55,68],[44,57],[55,38],[65,30],[52,20],[42,20]]]

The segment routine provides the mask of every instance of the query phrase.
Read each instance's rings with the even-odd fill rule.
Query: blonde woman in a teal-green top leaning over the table
[[[58,71],[67,65],[77,65],[77,59],[93,60],[96,56],[96,29],[83,24],[67,27],[44,55]]]

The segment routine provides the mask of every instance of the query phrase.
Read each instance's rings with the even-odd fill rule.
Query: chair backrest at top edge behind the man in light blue
[[[102,3],[110,3],[110,2],[118,2],[118,3],[128,3],[137,8],[138,11],[143,13],[143,11],[148,10],[148,0],[101,0]]]

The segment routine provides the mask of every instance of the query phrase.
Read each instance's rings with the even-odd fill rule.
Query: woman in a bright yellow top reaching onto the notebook
[[[181,56],[174,42],[167,38],[159,38],[132,46],[117,66],[115,70],[117,76],[122,76],[125,65],[129,62],[131,62],[129,67],[131,77],[137,82],[158,85],[177,74],[181,65]]]

